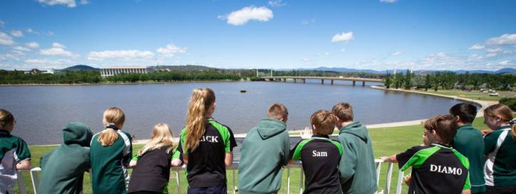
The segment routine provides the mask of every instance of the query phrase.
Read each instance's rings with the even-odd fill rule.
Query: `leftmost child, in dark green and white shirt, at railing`
[[[16,170],[31,169],[31,153],[27,143],[11,135],[16,125],[13,114],[0,109],[0,194],[14,193]]]

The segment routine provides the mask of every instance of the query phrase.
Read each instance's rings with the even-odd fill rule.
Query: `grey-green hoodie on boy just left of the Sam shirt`
[[[239,193],[276,193],[290,151],[287,124],[264,118],[247,133],[238,168]]]

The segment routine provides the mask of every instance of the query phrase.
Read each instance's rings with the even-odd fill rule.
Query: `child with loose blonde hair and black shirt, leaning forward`
[[[168,193],[170,165],[180,165],[180,152],[172,139],[172,132],[165,123],[153,128],[152,138],[133,157],[130,166],[133,173],[129,181],[129,193]]]

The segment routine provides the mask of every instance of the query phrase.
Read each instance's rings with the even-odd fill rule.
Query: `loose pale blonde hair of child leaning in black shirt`
[[[167,153],[170,153],[170,151],[175,148],[172,138],[172,132],[170,131],[170,128],[168,128],[167,124],[156,124],[153,128],[153,137],[150,138],[150,142],[143,146],[143,148],[138,152],[138,156],[142,156],[150,150],[156,150],[163,146],[170,146],[170,148],[167,148]]]

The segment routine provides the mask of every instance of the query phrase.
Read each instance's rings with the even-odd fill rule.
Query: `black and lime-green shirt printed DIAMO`
[[[412,166],[408,193],[462,193],[471,188],[468,158],[450,146],[415,146],[396,160],[402,171]]]

